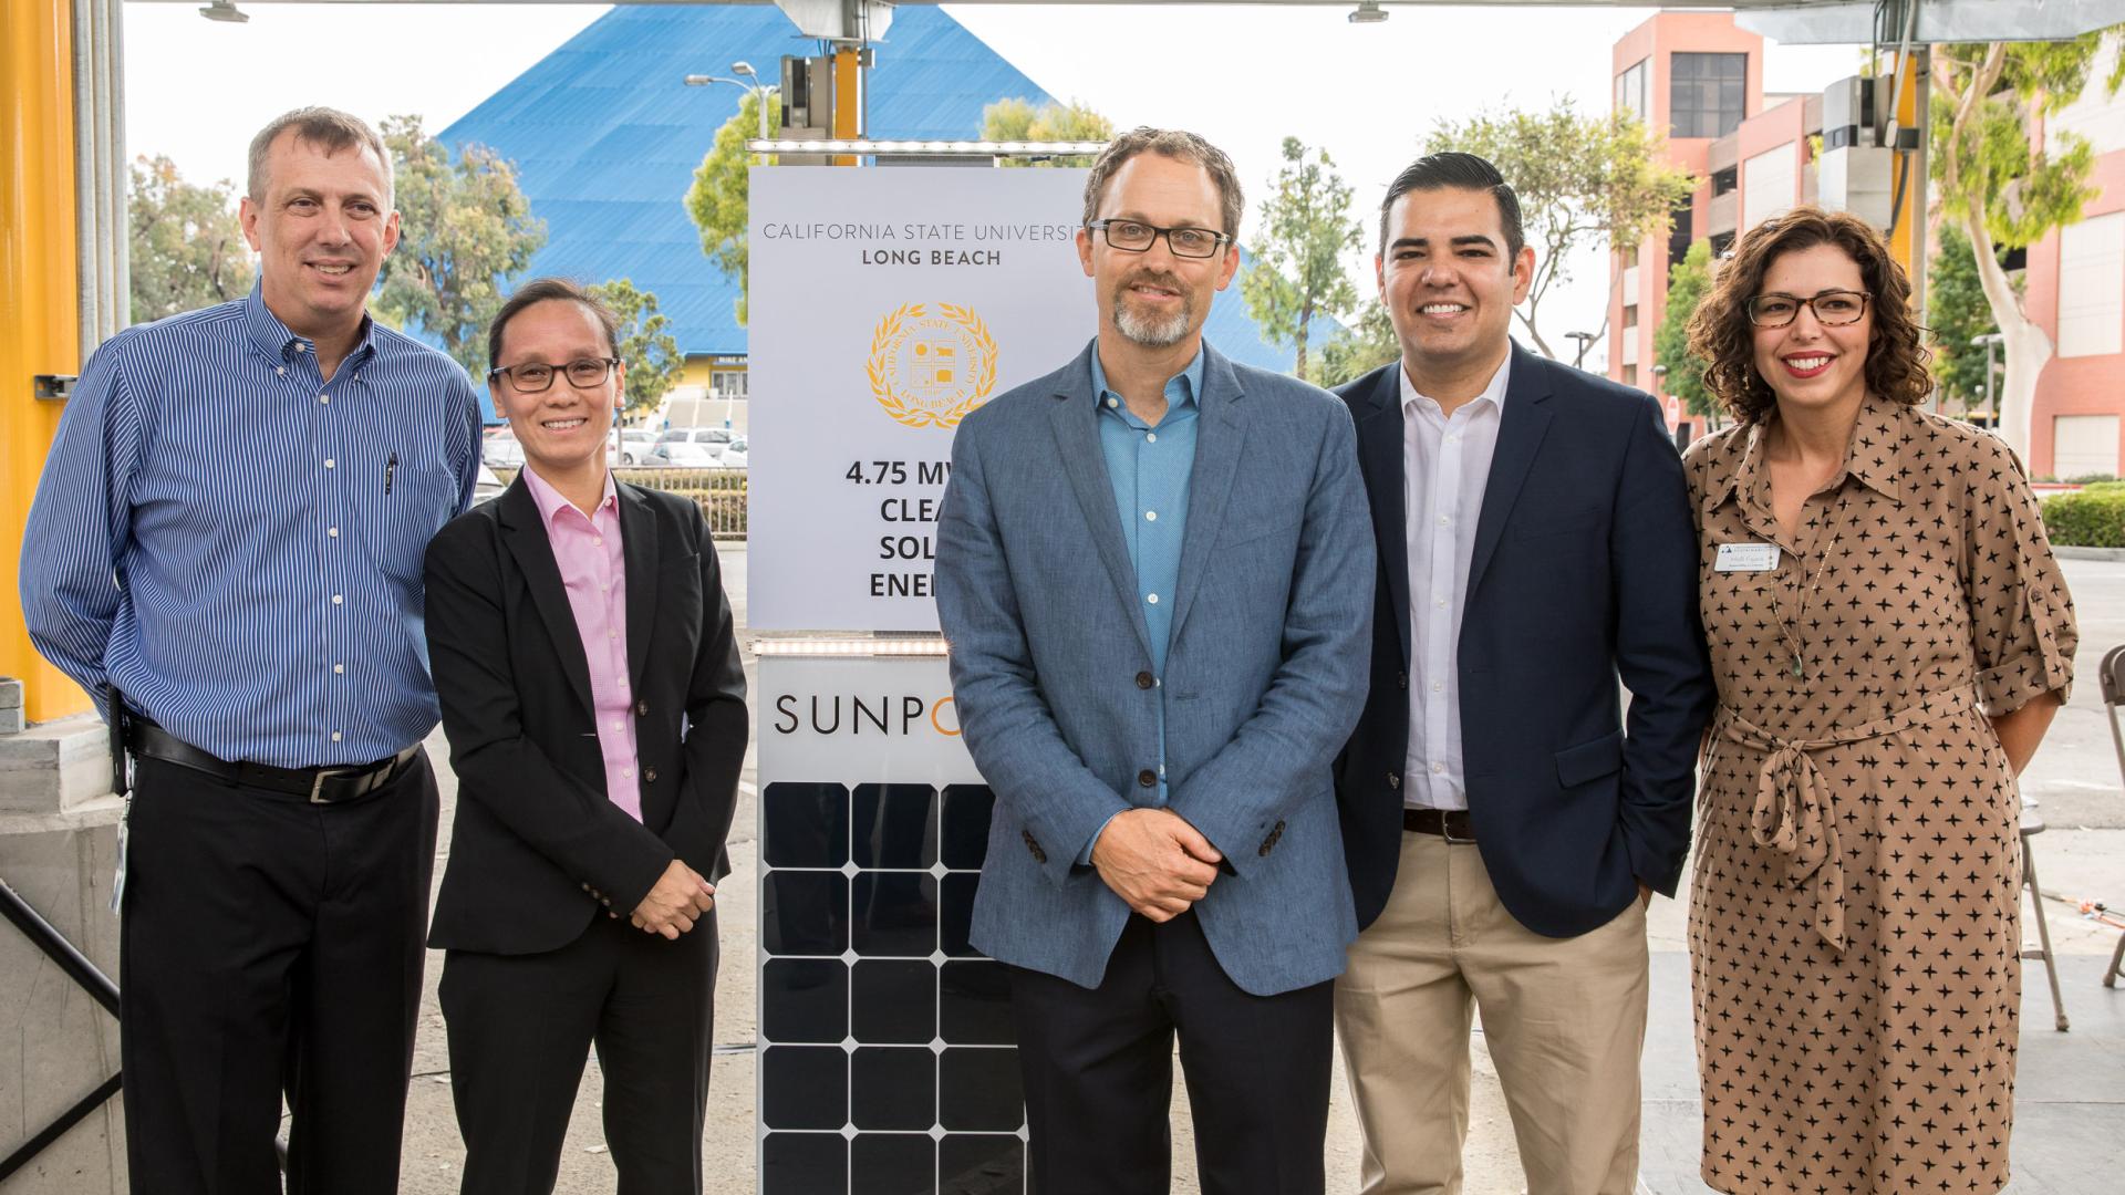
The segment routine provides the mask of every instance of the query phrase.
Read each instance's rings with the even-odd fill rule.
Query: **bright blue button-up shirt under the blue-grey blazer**
[[[1182,576],[1182,538],[1188,532],[1188,478],[1194,474],[1196,393],[1203,389],[1203,351],[1167,378],[1167,413],[1156,427],[1128,410],[1128,400],[1107,389],[1107,370],[1092,353],[1092,393],[1099,395],[1099,447],[1107,457],[1114,508],[1122,517],[1128,563],[1137,570],[1137,600],[1152,636],[1152,676],[1158,700],[1158,804],[1167,804],[1167,640],[1173,638],[1173,589]],[[1114,819],[1107,819],[1114,821]],[[1105,825],[1101,825],[1105,829]],[[1080,863],[1092,861],[1086,842]]]

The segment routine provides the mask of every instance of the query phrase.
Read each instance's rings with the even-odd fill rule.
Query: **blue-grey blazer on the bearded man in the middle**
[[[937,617],[967,751],[997,795],[973,906],[994,959],[1096,987],[1128,906],[1077,865],[1116,812],[1169,808],[1226,861],[1196,902],[1256,995],[1343,972],[1358,936],[1330,763],[1364,706],[1373,529],[1349,410],[1209,344],[1167,670],[1107,461],[1092,347],[969,415],[937,527]],[[1145,782],[1150,780],[1150,782]]]

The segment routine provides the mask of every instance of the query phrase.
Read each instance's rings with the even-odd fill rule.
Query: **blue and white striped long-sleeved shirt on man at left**
[[[130,327],[30,506],[30,638],[221,759],[402,751],[438,719],[421,559],[472,502],[478,423],[457,361],[374,321],[329,383],[257,289]]]

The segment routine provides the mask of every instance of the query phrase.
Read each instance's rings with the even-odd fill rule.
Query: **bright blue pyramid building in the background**
[[[740,289],[701,253],[684,196],[742,91],[682,79],[720,74],[740,60],[774,79],[784,55],[816,47],[771,4],[616,6],[438,140],[487,145],[516,164],[531,213],[546,221],[546,247],[525,276],[631,279],[657,296],[691,364],[737,364],[746,353],[733,306]],[[975,138],[982,106],[1001,98],[1050,100],[944,9],[903,6],[869,72],[869,134]],[[1322,319],[1313,342],[1337,327]],[[1247,319],[1237,285],[1211,304],[1205,334],[1237,361],[1292,368],[1292,351],[1266,344]],[[688,376],[708,381],[699,368]]]

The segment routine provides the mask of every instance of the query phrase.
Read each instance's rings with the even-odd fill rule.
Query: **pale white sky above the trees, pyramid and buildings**
[[[370,119],[419,113],[440,130],[606,13],[599,4],[125,4],[125,149],[164,153],[196,181],[240,179],[244,145],[298,104]],[[1570,96],[1609,108],[1611,45],[1653,9],[1394,6],[1352,26],[1343,6],[950,4],[1048,94],[1118,125],[1188,128],[1232,155],[1250,217],[1284,136],[1324,147],[1371,225],[1377,196],[1436,119]],[[890,32],[878,49],[892,53]],[[1855,47],[1770,45],[1766,91],[1813,91],[1857,70]],[[720,64],[703,64],[703,70]],[[706,145],[703,145],[706,149]],[[1371,251],[1352,259],[1371,298]],[[1543,302],[1543,334],[1600,327],[1598,251]],[[1237,289],[1220,302],[1239,302]],[[1596,344],[1587,366],[1606,357]]]

